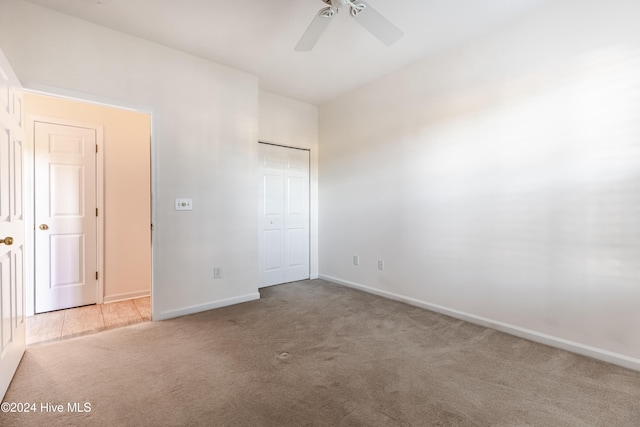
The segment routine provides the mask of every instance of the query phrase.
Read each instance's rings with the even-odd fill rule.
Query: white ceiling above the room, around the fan
[[[260,88],[321,104],[550,0],[368,0],[405,35],[387,47],[346,11],[311,52],[294,47],[321,0],[29,0],[255,74]]]

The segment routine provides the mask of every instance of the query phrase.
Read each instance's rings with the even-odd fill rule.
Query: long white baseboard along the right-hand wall
[[[553,335],[547,335],[540,332],[536,332],[530,329],[521,328],[519,326],[511,325],[509,323],[498,322],[495,320],[487,319],[485,317],[476,316],[474,314],[465,313],[459,310],[454,310],[448,307],[443,307],[437,304],[430,304],[428,302],[420,301],[415,298],[406,297],[403,295],[395,294],[393,292],[383,291],[380,289],[372,288],[369,286],[361,285],[359,283],[350,282],[348,280],[338,279],[337,277],[320,275],[320,279],[328,282],[333,282],[349,288],[358,289],[370,294],[378,295],[381,297],[389,298],[395,301],[404,302],[409,305],[424,308],[426,310],[434,311],[436,313],[444,314],[446,316],[454,317],[456,319],[464,320],[476,325],[485,326],[487,328],[495,329],[500,332],[504,332],[510,335],[515,335],[520,338],[524,338],[530,341],[535,341],[541,344],[545,344],[551,347],[556,347],[562,350],[570,351],[572,353],[581,354],[583,356],[592,357],[594,359],[602,360],[604,362],[612,363],[614,365],[622,366],[624,368],[640,371],[640,359],[625,356],[623,354],[613,353],[601,348],[591,347],[588,345],[576,343],[573,341],[558,338]]]

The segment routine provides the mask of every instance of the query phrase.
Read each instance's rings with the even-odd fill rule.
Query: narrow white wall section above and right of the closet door
[[[318,107],[260,91],[259,140],[310,150],[310,275],[318,278]]]

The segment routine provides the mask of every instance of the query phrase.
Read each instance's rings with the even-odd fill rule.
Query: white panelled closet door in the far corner
[[[309,151],[260,144],[260,286],[309,278]]]

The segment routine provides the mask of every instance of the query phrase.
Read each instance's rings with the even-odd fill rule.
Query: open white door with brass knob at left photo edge
[[[0,51],[0,396],[25,349],[22,120],[20,83]]]

